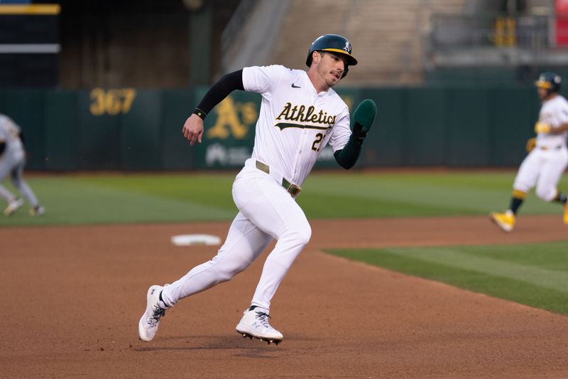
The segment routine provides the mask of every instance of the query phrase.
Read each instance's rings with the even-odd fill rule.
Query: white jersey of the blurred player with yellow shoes
[[[562,95],[556,95],[552,99],[546,100],[540,108],[538,121],[552,127],[559,127],[561,124],[568,123],[568,101]],[[537,134],[537,146],[544,146],[549,149],[565,146],[567,134],[567,132],[559,134],[539,133]]]

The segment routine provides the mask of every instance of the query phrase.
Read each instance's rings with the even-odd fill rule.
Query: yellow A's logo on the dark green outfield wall
[[[215,124],[207,131],[207,138],[245,139],[251,125],[256,121],[258,112],[254,102],[235,102],[231,96],[214,108],[217,113]]]

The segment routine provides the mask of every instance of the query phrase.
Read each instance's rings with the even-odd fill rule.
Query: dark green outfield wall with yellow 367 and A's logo
[[[205,120],[191,148],[185,119],[206,87],[0,90],[0,112],[21,125],[28,169],[232,169],[252,151],[261,96],[233,92]],[[375,100],[378,117],[359,167],[518,166],[539,102],[530,86],[338,88],[351,111]],[[322,151],[317,167],[338,167]]]

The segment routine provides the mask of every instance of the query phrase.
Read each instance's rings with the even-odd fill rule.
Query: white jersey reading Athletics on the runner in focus
[[[282,65],[243,69],[244,89],[262,95],[253,159],[301,186],[328,143],[349,141],[349,108],[331,88],[317,93],[307,73]]]

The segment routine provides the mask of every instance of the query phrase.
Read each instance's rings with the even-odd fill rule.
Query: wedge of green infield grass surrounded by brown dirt
[[[328,252],[520,304],[568,314],[568,241]]]

